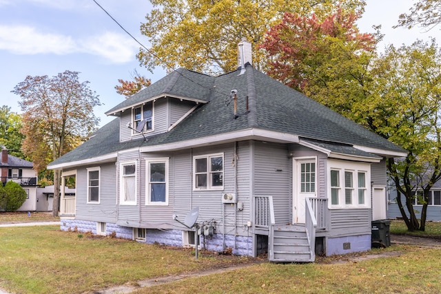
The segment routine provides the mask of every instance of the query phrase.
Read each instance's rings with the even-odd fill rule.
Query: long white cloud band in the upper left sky
[[[12,54],[73,54],[100,56],[111,63],[126,63],[135,58],[137,46],[128,36],[107,32],[87,39],[39,32],[24,25],[0,25],[0,50]]]

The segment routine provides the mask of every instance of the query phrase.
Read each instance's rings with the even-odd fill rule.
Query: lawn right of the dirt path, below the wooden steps
[[[440,293],[441,251],[400,251],[406,253],[343,264],[263,263],[135,293]]]

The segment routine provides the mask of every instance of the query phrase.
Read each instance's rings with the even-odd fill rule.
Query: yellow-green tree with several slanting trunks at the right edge
[[[408,229],[424,231],[429,191],[441,178],[441,52],[434,40],[400,48],[389,45],[372,76],[371,96],[363,109],[378,134],[409,152],[401,160],[389,158],[387,167],[398,193],[404,195],[405,203],[400,197],[397,202]],[[413,209],[417,190],[420,223]]]

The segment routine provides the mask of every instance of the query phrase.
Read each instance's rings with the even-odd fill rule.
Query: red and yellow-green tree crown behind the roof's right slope
[[[265,36],[267,73],[310,98],[358,120],[353,103],[367,96],[369,66],[378,36],[360,33],[360,14],[344,12],[318,19],[285,13]]]

